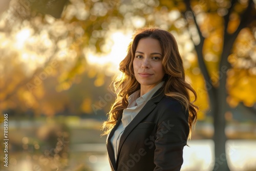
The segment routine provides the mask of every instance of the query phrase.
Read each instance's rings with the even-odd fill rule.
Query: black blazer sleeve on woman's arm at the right
[[[183,147],[189,134],[188,111],[175,99],[165,98],[160,103],[154,171],[178,171],[183,163]]]

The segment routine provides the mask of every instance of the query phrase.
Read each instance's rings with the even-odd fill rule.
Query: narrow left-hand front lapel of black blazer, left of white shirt
[[[109,156],[109,160],[110,160],[110,163],[112,165],[112,168],[114,168],[114,170],[116,170],[116,160],[115,160],[115,154],[114,154],[114,149],[113,149],[113,146],[111,144],[111,137],[114,135],[118,125],[120,124],[121,122],[121,119],[122,119],[122,115],[120,116],[120,118],[117,120],[117,123],[116,125],[113,127],[113,129],[111,130],[111,132],[109,133],[108,137],[106,137],[106,149],[108,151],[108,156]]]

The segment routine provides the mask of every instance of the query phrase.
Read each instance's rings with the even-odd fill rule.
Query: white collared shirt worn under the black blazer
[[[125,127],[135,118],[135,116],[140,112],[143,106],[152,96],[163,86],[164,81],[160,82],[152,90],[148,91],[146,94],[140,95],[140,90],[134,92],[128,97],[128,106],[123,110],[121,123],[117,127],[114,135],[111,137],[111,143],[113,145],[115,159],[117,159],[117,152],[120,138],[123,134]],[[136,105],[137,104],[137,105]]]

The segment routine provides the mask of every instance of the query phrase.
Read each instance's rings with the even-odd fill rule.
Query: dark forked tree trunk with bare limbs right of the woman
[[[226,134],[225,134],[225,125],[226,119],[225,114],[229,110],[229,106],[227,104],[227,90],[226,90],[226,72],[230,68],[230,63],[228,63],[227,58],[231,53],[231,49],[233,47],[233,43],[236,40],[239,32],[246,27],[254,18],[255,12],[251,15],[251,10],[254,9],[254,3],[252,0],[249,0],[248,6],[245,11],[241,14],[241,22],[238,29],[229,34],[227,32],[227,27],[229,23],[230,14],[233,11],[234,5],[237,3],[237,0],[232,0],[230,3],[230,8],[228,9],[227,15],[224,16],[224,32],[223,32],[223,51],[221,55],[220,65],[219,65],[219,85],[218,88],[213,87],[212,81],[210,79],[210,75],[207,71],[204,59],[203,59],[203,45],[204,45],[204,37],[202,36],[202,32],[197,23],[196,16],[191,9],[190,1],[184,1],[187,7],[187,11],[191,12],[192,17],[186,17],[187,12],[183,12],[185,18],[187,19],[188,24],[195,24],[198,34],[200,37],[200,43],[195,45],[195,50],[198,55],[198,63],[205,79],[206,90],[209,95],[209,103],[210,103],[210,113],[214,118],[214,143],[215,143],[215,164],[213,170],[220,171],[229,171],[227,158],[226,158]],[[190,15],[191,16],[191,15]]]

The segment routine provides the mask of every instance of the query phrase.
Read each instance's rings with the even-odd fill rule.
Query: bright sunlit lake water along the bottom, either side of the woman
[[[191,140],[184,147],[182,171],[211,171],[214,168],[214,143],[212,140]],[[256,140],[228,140],[226,155],[231,171],[256,170]],[[105,144],[73,144],[65,169],[51,170],[87,170],[79,167],[89,167],[92,171],[110,171]],[[4,170],[12,171],[43,171],[49,170],[46,158],[40,159],[32,153],[19,152],[15,156],[10,154],[9,167]],[[221,161],[221,157],[217,157]],[[47,163],[45,163],[47,161]],[[51,161],[49,161],[50,163]],[[58,162],[58,161],[57,161]],[[54,166],[54,165],[53,165]],[[60,165],[59,165],[60,166]],[[63,166],[63,165],[62,165]],[[3,170],[1,167],[0,170]]]

